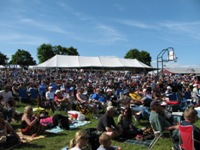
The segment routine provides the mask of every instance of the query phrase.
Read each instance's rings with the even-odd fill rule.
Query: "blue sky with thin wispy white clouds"
[[[123,58],[130,49],[157,55],[173,47],[177,63],[200,65],[199,0],[0,0],[0,51],[37,61],[43,44],[73,46],[81,56]],[[164,57],[166,57],[164,55]]]

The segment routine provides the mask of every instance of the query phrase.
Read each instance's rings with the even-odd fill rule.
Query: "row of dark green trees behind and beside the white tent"
[[[79,53],[74,47],[63,47],[61,45],[52,46],[51,44],[43,43],[37,48],[37,58],[40,63],[52,58],[55,55],[74,55],[79,56]],[[151,66],[151,56],[147,51],[139,51],[138,49],[130,49],[124,56],[126,59],[137,59],[144,64]],[[9,60],[7,55],[0,51],[0,65],[19,65],[21,67],[28,67],[30,65],[36,65],[36,61],[33,59],[29,51],[18,49]]]

